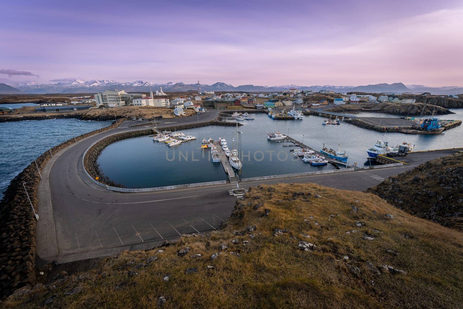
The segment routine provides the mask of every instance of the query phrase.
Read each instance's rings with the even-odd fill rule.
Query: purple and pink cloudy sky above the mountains
[[[462,1],[2,6],[0,82],[463,86]]]

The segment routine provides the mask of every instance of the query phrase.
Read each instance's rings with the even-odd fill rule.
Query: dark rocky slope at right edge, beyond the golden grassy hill
[[[409,214],[463,231],[463,153],[389,177],[368,192]]]

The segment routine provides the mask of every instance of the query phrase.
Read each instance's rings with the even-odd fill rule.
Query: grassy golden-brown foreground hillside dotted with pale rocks
[[[362,192],[251,188],[218,231],[41,278],[7,308],[456,308],[463,234]],[[445,263],[442,261],[445,260]]]

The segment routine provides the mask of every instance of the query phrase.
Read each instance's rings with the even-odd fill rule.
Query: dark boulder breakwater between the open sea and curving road
[[[82,134],[75,138],[81,140],[99,132],[119,126],[123,120],[117,120],[111,126]],[[75,143],[74,138],[51,149],[54,154]],[[51,158],[50,151],[37,158],[39,170]],[[14,290],[32,287],[36,284],[36,219],[27,198],[23,183],[29,193],[32,205],[37,213],[37,189],[40,177],[34,162],[31,162],[16,176],[5,191],[0,202],[0,298],[5,298]],[[40,220],[40,219],[39,219]]]

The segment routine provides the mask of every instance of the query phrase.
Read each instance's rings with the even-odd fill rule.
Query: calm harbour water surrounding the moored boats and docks
[[[463,120],[463,109],[452,110],[457,114],[440,116],[441,119]],[[373,116],[362,113],[364,116]],[[390,116],[375,113],[374,116]],[[333,169],[331,164],[312,166],[301,160],[293,161],[290,149],[283,144],[267,140],[269,132],[279,130],[282,134],[303,141],[304,144],[320,150],[325,144],[328,148],[346,151],[349,163],[359,166],[370,165],[367,149],[379,139],[390,145],[404,141],[415,145],[415,150],[443,149],[461,147],[463,126],[437,135],[410,135],[403,133],[376,132],[359,128],[348,123],[339,126],[321,123],[322,117],[305,116],[304,120],[272,120],[267,114],[255,114],[256,120],[242,120],[241,151],[243,153],[242,177],[258,177],[298,173],[314,170]],[[236,140],[236,127],[207,126],[183,131],[196,136],[196,140],[168,147],[163,142],[153,142],[150,137],[125,139],[109,145],[102,151],[98,163],[104,174],[116,183],[127,188],[147,188],[183,183],[200,183],[225,180],[226,175],[220,163],[210,161],[210,151],[200,148],[203,138],[217,140],[223,137],[229,145]],[[384,135],[384,136],[383,136]],[[117,157],[118,160],[114,160]]]

